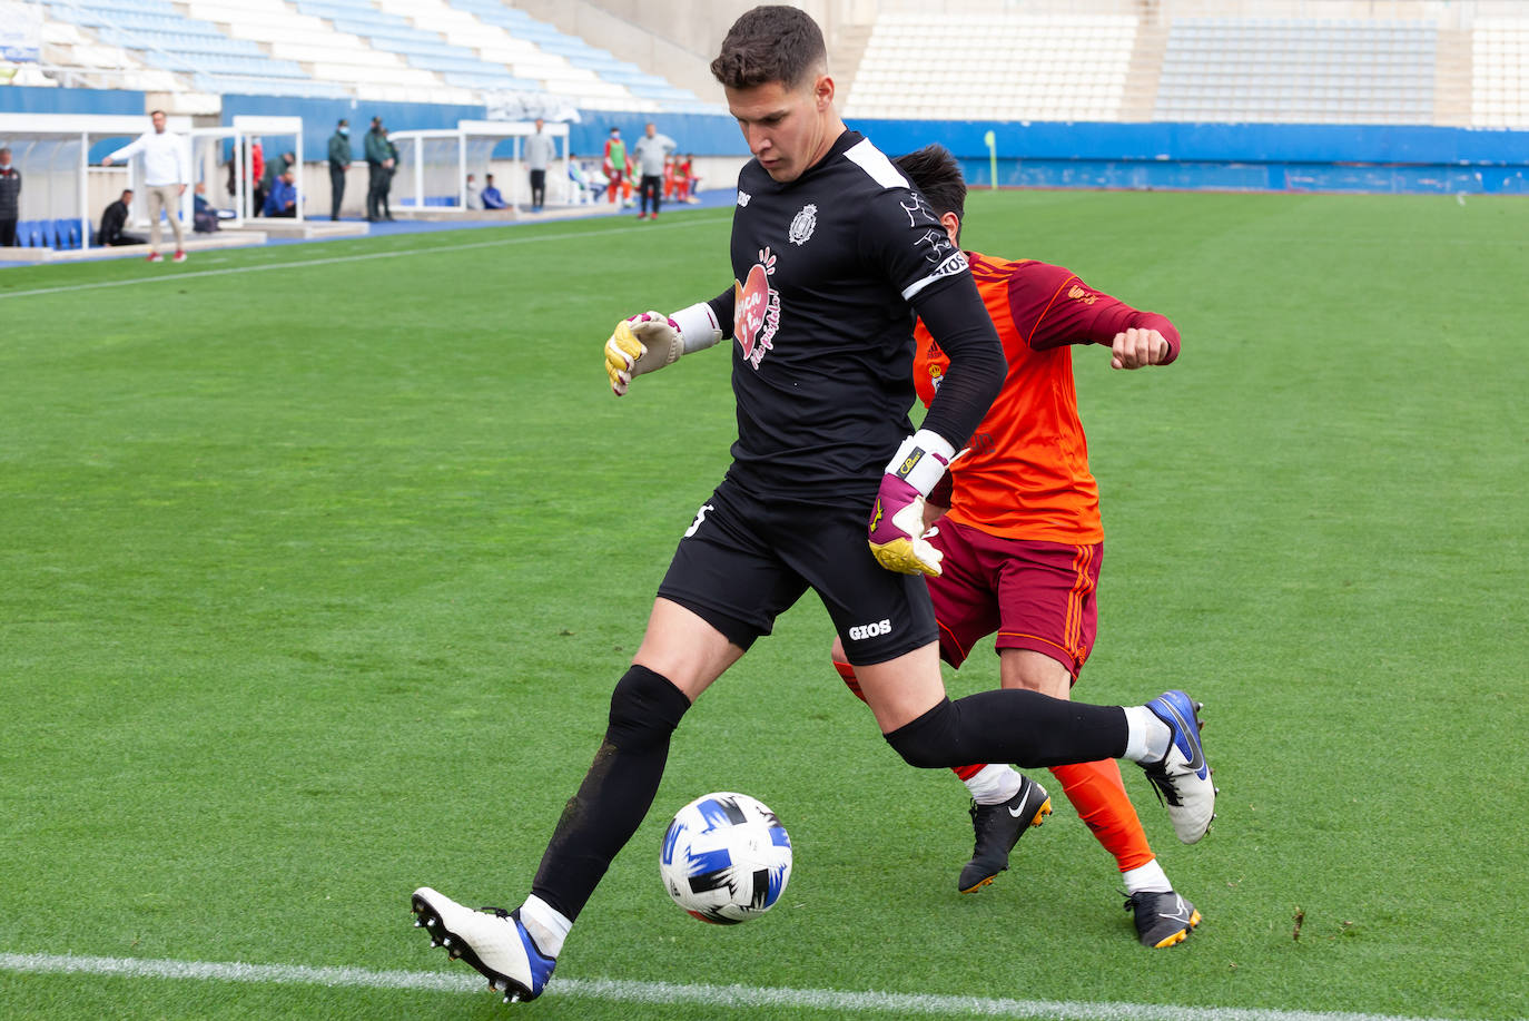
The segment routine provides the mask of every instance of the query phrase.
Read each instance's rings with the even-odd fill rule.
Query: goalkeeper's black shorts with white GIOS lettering
[[[659,595],[748,649],[809,588],[852,664],[885,663],[937,637],[922,576],[876,563],[870,508],[760,501],[723,481],[670,562]]]

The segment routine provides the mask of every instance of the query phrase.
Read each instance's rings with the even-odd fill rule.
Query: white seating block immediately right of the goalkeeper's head
[[[1128,15],[884,15],[844,115],[1115,121],[1135,38]]]

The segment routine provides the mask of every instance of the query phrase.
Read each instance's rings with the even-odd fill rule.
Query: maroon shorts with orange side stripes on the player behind
[[[960,666],[997,631],[998,649],[1049,655],[1078,678],[1099,628],[1102,542],[1000,539],[945,517],[930,542],[945,554],[942,574],[928,579],[945,661]]]

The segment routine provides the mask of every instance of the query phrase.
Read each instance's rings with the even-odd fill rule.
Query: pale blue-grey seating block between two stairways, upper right
[[[1157,121],[1430,124],[1433,21],[1174,18]]]

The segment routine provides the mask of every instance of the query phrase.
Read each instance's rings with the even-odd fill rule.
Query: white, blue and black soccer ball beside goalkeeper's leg
[[[703,794],[674,813],[659,874],[693,917],[737,925],[780,900],[790,879],[790,837],[775,813],[748,794]]]

